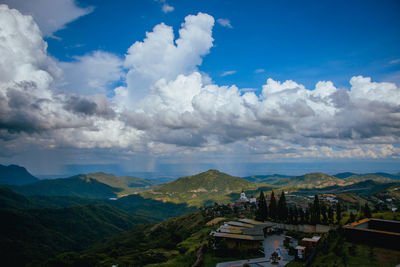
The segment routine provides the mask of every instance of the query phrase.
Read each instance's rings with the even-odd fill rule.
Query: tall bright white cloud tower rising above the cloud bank
[[[143,42],[135,42],[128,49],[124,62],[129,69],[127,86],[116,89],[115,100],[130,108],[148,95],[158,80],[171,80],[179,74],[196,71],[212,46],[213,25],[213,17],[199,13],[185,18],[176,40],[173,29],[164,23],[147,32]]]

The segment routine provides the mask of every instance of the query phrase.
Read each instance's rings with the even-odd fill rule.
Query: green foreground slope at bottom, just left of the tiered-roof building
[[[61,254],[44,266],[192,266],[197,250],[209,238],[206,222],[196,212],[156,225],[138,225],[84,254]]]

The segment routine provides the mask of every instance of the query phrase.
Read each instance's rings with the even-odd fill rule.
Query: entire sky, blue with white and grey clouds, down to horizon
[[[388,0],[0,0],[0,163],[400,172],[399,12]]]

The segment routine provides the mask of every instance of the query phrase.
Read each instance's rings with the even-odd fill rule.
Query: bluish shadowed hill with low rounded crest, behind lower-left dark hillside
[[[116,197],[122,189],[103,184],[86,175],[70,178],[43,180],[34,184],[12,186],[14,191],[24,195],[40,196],[76,196],[84,198]]]

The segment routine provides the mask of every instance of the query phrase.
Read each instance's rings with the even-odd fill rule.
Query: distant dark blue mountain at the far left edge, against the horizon
[[[39,179],[30,174],[24,167],[0,164],[0,184],[24,185],[38,181]]]

